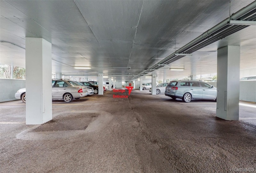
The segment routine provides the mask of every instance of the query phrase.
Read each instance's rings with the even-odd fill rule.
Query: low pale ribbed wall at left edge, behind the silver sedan
[[[15,93],[25,88],[25,83],[22,79],[0,79],[0,102],[16,100]]]

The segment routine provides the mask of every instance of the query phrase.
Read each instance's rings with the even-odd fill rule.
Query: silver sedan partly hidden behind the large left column
[[[52,99],[63,99],[66,103],[70,103],[73,98],[79,99],[87,95],[86,86],[74,86],[66,80],[52,80]],[[15,98],[26,103],[26,88],[18,90]]]

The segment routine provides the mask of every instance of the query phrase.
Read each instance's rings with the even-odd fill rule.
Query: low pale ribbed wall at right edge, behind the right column
[[[217,88],[217,82],[207,82]],[[256,102],[256,81],[240,81],[239,99],[247,102]]]

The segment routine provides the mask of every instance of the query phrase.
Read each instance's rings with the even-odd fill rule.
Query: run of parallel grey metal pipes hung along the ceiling
[[[231,15],[230,18],[227,18],[222,22],[218,23],[208,31],[204,32],[199,37],[195,38],[194,40],[192,40],[182,48],[178,49],[176,52],[164,58],[159,63],[153,65],[151,68],[149,68],[145,72],[141,73],[135,78],[132,78],[130,81],[138,77],[141,77],[145,74],[148,74],[154,70],[157,70],[161,67],[164,67],[164,65],[159,65],[159,64],[170,64],[184,57],[181,55],[175,56],[175,53],[193,53],[209,44],[212,44],[222,38],[225,38],[235,32],[240,31],[241,29],[244,29],[245,27],[248,27],[248,25],[229,25],[227,24],[229,20],[255,21],[256,20],[256,1],[252,2],[248,6],[242,8],[241,10],[237,11],[236,13]]]

